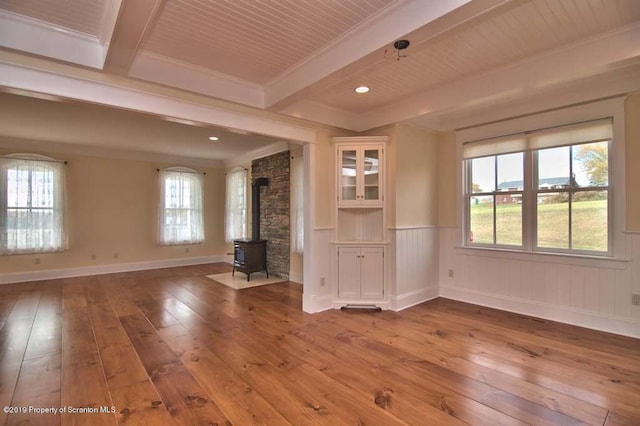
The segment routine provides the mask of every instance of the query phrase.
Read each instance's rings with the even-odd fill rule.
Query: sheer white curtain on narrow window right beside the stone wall
[[[247,171],[227,173],[224,234],[229,243],[247,237]]]

